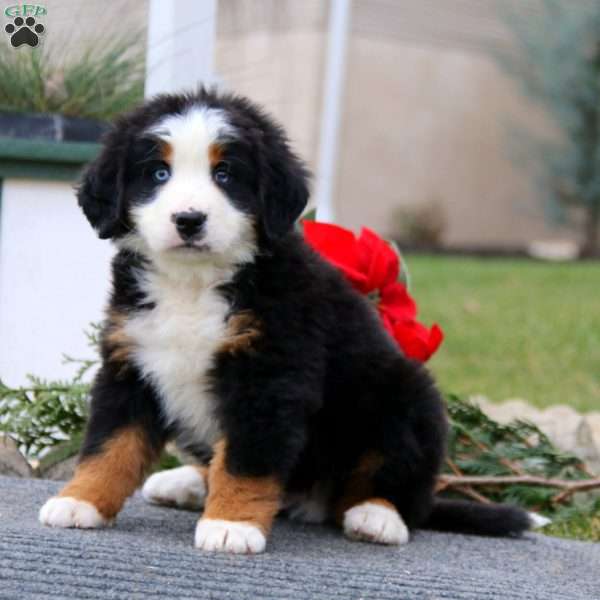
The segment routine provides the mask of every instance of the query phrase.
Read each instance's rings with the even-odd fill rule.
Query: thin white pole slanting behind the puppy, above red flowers
[[[351,0],[332,0],[329,15],[327,64],[321,113],[321,138],[317,166],[317,220],[335,218],[333,191],[338,157],[338,138],[346,75],[346,48],[350,29]]]

